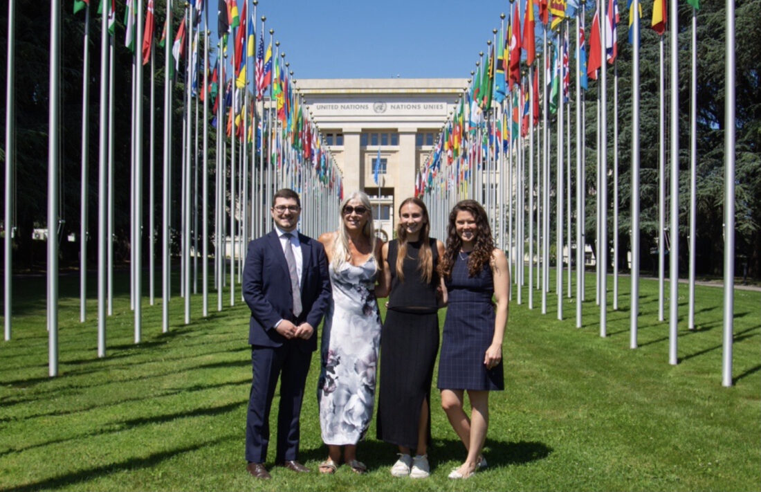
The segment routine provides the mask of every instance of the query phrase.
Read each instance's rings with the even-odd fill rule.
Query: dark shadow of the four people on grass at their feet
[[[387,442],[369,440],[360,442],[357,446],[359,459],[368,465],[368,470],[389,468],[395,461],[396,446]],[[552,448],[543,442],[507,442],[497,439],[486,439],[483,454],[489,462],[489,468],[509,465],[524,465],[544,459],[552,453]],[[454,439],[435,439],[428,448],[428,460],[431,468],[436,468],[446,462],[460,464],[466,458],[467,452],[463,443]],[[327,456],[327,447],[320,446],[304,449],[300,458],[304,461],[322,461]]]

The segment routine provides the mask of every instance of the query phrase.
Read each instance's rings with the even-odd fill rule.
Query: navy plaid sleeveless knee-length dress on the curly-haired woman
[[[492,369],[483,363],[494,337],[492,269],[486,264],[477,276],[468,276],[469,254],[457,254],[451,279],[447,280],[449,307],[438,361],[438,388],[502,390],[502,363]]]

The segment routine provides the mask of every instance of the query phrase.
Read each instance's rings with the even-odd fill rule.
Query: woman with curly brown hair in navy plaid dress
[[[477,468],[486,466],[481,449],[489,427],[489,391],[505,388],[502,338],[510,286],[508,260],[494,247],[489,218],[475,200],[457,203],[449,214],[447,247],[439,271],[447,286],[449,307],[438,388],[441,406],[468,452],[449,478],[469,478]],[[470,417],[463,409],[465,391],[473,409]]]

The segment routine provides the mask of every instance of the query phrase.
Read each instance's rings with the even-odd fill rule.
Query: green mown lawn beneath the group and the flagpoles
[[[657,284],[642,281],[640,348],[629,350],[628,278],[619,311],[608,314],[607,338],[599,337],[593,282],[587,276],[581,329],[572,299],[565,321],[556,320],[554,294],[547,315],[539,292],[533,311],[525,289],[524,304],[511,304],[507,391],[492,394],[486,471],[447,479],[464,452],[433,391],[431,478],[392,478],[395,449],[374,439],[373,426],[358,451],[369,474],[342,467],[334,476],[304,477],[275,468],[264,483],[248,476],[244,462],[250,349],[242,302],[230,308],[227,295],[224,311],[202,319],[194,296],[193,322],[185,326],[174,296],[170,332],[161,334],[161,305],[145,299],[143,343],[135,346],[127,280],[119,274],[107,357],[97,359],[96,304],[88,303],[88,322],[78,323],[78,276],[62,277],[60,376],[49,379],[44,278],[16,279],[13,340],[0,345],[0,489],[761,489],[761,293],[735,294],[735,385],[723,388],[721,289],[697,287],[697,330],[690,332],[687,286],[680,285],[680,364],[670,366]],[[209,304],[215,310],[215,296]],[[314,356],[301,418],[301,458],[312,468],[326,457],[318,365]],[[274,452],[273,445],[270,464]]]

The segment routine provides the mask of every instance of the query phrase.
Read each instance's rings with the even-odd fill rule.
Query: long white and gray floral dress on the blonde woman
[[[330,265],[333,299],[325,316],[322,370],[317,382],[323,442],[353,445],[365,437],[373,416],[380,348],[374,257],[357,267]]]

